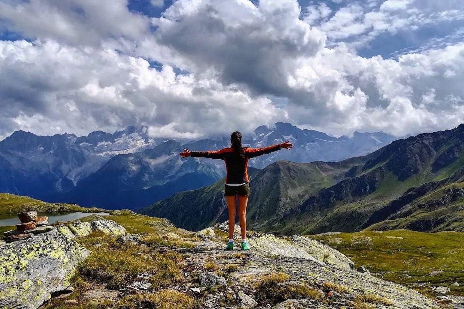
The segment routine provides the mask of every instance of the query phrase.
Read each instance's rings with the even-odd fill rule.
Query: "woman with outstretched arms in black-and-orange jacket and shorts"
[[[229,208],[229,243],[226,246],[226,250],[233,249],[236,195],[238,195],[238,218],[242,232],[242,250],[248,250],[249,246],[246,241],[246,204],[248,203],[248,195],[250,194],[248,159],[277,151],[281,148],[290,149],[293,145],[290,144],[290,141],[286,141],[282,144],[264,148],[242,147],[242,134],[238,131],[232,133],[231,143],[231,147],[218,151],[189,151],[184,149],[180,153],[180,156],[182,158],[191,156],[194,158],[221,159],[226,162],[227,174],[224,195],[226,196],[227,207]]]

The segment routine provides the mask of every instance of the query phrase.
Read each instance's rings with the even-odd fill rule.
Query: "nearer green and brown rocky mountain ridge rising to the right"
[[[464,231],[464,124],[339,162],[279,161],[251,177],[248,224],[263,232]],[[223,181],[140,210],[201,229],[226,220]]]

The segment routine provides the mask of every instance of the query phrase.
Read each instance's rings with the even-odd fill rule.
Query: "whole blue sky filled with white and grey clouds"
[[[463,0],[0,0],[0,138],[464,122]]]

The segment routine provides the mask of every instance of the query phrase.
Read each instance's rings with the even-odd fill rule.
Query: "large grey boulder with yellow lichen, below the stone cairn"
[[[54,229],[0,244],[0,308],[35,309],[70,285],[89,251]]]

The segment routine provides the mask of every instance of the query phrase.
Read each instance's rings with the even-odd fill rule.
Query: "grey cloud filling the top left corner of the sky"
[[[127,0],[1,0],[0,19],[10,31],[65,44],[99,45],[110,38],[141,38],[149,19],[129,12]]]

